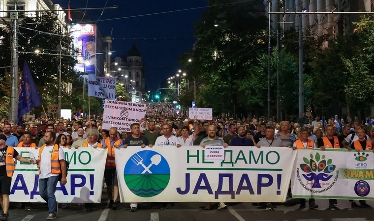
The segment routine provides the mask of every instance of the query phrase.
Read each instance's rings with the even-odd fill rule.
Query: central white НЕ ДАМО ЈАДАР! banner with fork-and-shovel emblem
[[[296,151],[225,148],[205,160],[200,146],[115,149],[121,202],[284,202]]]

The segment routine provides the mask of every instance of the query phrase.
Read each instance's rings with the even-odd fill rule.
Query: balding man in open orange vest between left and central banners
[[[109,138],[102,141],[103,148],[108,148],[106,157],[104,177],[106,183],[106,191],[109,197],[109,208],[117,209],[117,199],[120,194],[118,190],[118,180],[116,171],[116,162],[114,158],[114,148],[123,146],[122,139],[118,138],[117,128],[112,127],[109,130]],[[113,190],[112,190],[113,186]]]

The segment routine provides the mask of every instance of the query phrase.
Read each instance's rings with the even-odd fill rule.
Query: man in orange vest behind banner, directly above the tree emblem
[[[313,148],[317,148],[315,142],[311,139],[308,139],[309,137],[309,129],[308,128],[305,128],[305,127],[302,127],[300,128],[300,138],[297,139],[294,143],[293,143],[293,148],[294,150],[296,149],[313,149]],[[301,199],[300,200],[301,203],[300,203],[300,208],[301,209],[304,209],[305,208],[305,202],[306,200],[305,199]],[[316,209],[318,208],[318,205],[315,204],[315,200],[313,198],[309,199],[309,208],[310,209]]]

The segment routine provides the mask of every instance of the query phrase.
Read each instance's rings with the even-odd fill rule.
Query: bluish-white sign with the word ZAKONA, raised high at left
[[[88,96],[114,100],[116,98],[115,78],[96,77],[88,75]]]

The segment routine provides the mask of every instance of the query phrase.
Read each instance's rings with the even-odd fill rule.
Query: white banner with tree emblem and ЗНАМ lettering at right
[[[291,183],[295,198],[374,200],[374,153],[297,150]]]

